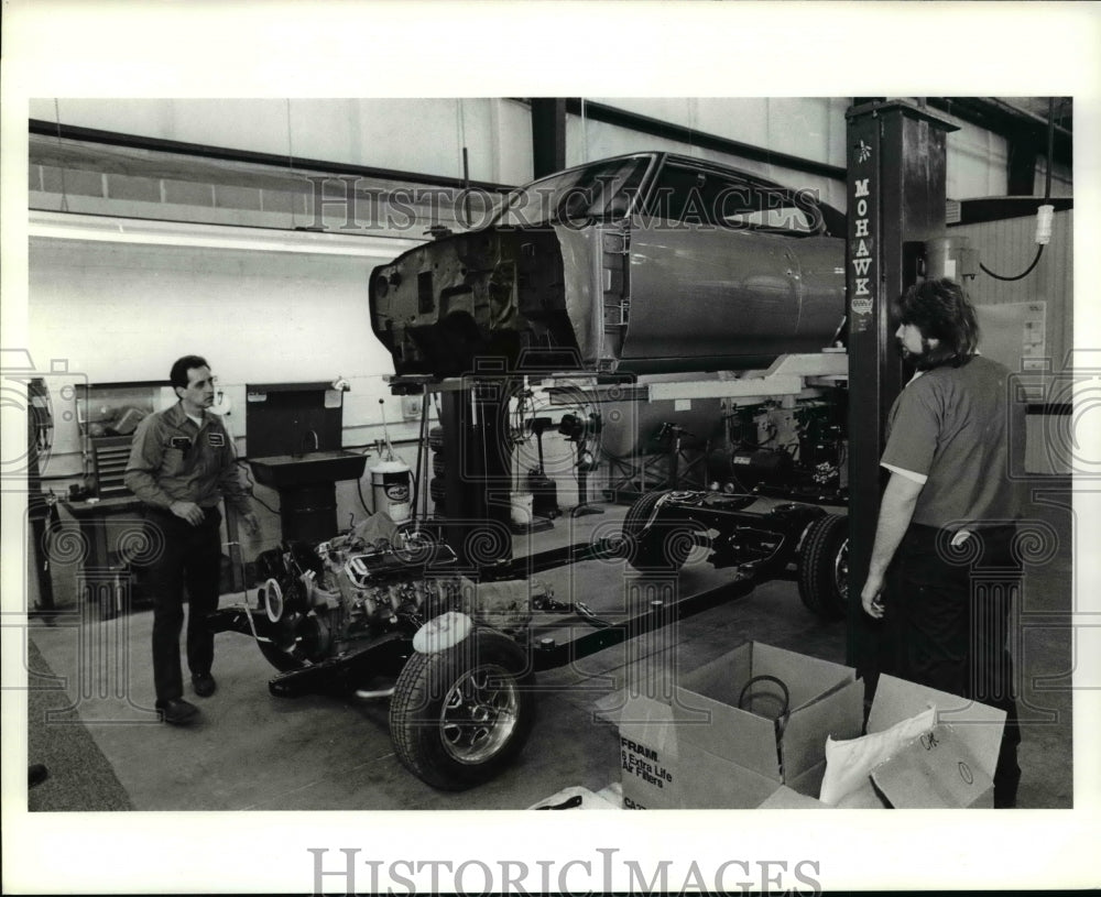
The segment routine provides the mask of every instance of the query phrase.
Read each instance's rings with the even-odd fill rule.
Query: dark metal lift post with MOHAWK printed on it
[[[846,300],[849,311],[848,661],[880,669],[877,624],[863,613],[883,480],[880,456],[902,389],[891,306],[918,277],[925,241],[944,234],[946,136],[953,124],[908,102],[854,106],[848,120]],[[887,646],[890,647],[890,646]],[[872,681],[874,678],[872,677]]]

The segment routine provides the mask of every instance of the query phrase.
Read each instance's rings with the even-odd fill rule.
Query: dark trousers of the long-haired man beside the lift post
[[[949,530],[912,524],[906,532],[887,586],[893,650],[884,671],[1005,711],[994,806],[1012,807],[1021,729],[1009,634],[1022,565],[1015,526],[973,532],[957,549]]]

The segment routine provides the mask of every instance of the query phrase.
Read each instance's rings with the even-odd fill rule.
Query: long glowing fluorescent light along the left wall
[[[351,255],[375,259],[380,262],[392,261],[406,250],[425,242],[425,238],[197,225],[186,221],[68,215],[40,210],[30,212],[29,233],[32,239],[89,240],[248,252],[294,252],[304,255]]]

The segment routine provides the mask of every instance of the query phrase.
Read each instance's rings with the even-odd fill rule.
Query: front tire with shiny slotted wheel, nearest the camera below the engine
[[[390,737],[406,769],[433,788],[489,781],[520,753],[535,722],[527,655],[493,630],[410,657],[390,702]]]

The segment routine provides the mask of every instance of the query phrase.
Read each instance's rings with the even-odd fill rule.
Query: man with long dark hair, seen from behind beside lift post
[[[884,617],[885,672],[1006,712],[994,806],[1012,807],[1021,741],[1007,647],[1021,577],[1025,406],[1010,371],[978,353],[979,326],[949,280],[909,287],[895,338],[916,372],[895,400],[864,611]],[[890,571],[890,572],[889,572]]]

